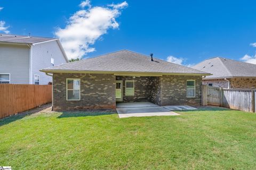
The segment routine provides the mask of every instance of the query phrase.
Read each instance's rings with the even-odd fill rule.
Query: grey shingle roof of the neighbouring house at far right
[[[214,57],[193,66],[193,69],[211,73],[206,79],[229,77],[256,77],[256,65]]]

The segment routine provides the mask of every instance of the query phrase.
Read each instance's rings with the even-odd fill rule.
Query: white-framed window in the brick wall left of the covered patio
[[[67,100],[80,100],[80,79],[67,79]]]

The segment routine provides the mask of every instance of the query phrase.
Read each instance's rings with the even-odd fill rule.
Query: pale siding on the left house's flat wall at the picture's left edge
[[[0,73],[10,74],[12,84],[28,84],[29,47],[0,44]]]

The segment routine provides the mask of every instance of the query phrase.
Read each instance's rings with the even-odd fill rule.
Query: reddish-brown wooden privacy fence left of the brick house
[[[52,101],[52,85],[0,84],[0,118]]]

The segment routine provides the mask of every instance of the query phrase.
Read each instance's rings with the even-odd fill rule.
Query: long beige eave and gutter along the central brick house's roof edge
[[[91,73],[91,74],[114,74],[120,76],[162,76],[162,75],[211,75],[209,73],[165,73],[165,72],[133,72],[133,71],[85,71],[85,70],[40,70],[45,73]]]

